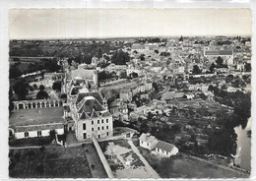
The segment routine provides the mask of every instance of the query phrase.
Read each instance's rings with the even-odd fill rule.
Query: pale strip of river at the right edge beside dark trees
[[[248,137],[247,132],[251,131],[251,118],[248,119],[245,129],[242,126],[234,128],[237,134],[237,149],[235,163],[238,164],[242,169],[251,170],[251,138]]]

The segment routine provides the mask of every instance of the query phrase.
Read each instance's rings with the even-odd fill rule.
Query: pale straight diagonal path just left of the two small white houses
[[[140,157],[142,162],[144,163],[147,172],[149,173],[150,178],[160,178],[160,175],[151,167],[148,161],[143,157],[140,151],[134,146],[131,140],[128,141],[128,144],[131,146],[132,150]]]

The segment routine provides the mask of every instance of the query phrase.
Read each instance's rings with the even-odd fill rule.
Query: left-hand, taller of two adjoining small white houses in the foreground
[[[156,148],[156,145],[158,144],[159,141],[154,136],[151,136],[150,133],[143,133],[139,138],[139,142],[140,147],[152,151]]]

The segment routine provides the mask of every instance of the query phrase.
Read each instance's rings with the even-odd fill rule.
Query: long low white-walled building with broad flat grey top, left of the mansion
[[[9,136],[15,139],[46,137],[55,130],[64,134],[63,107],[14,110],[9,118]]]

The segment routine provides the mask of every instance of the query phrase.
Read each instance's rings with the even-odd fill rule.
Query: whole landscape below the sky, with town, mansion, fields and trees
[[[10,39],[11,178],[248,178],[251,36]]]

